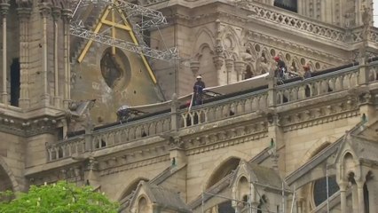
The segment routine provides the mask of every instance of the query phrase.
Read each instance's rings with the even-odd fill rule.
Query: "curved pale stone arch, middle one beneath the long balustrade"
[[[211,186],[212,182],[214,182],[214,178],[212,177],[214,177],[214,175],[217,174],[218,170],[222,170],[222,167],[224,166],[225,163],[229,162],[231,159],[238,159],[239,161],[240,160],[248,161],[248,158],[250,158],[248,157],[248,154],[244,154],[239,151],[231,151],[231,152],[227,152],[226,154],[222,154],[222,156],[220,156],[217,159],[216,161],[217,163],[212,165],[212,169],[208,170],[208,172],[206,173],[204,177],[204,181],[202,181],[203,183],[202,189],[205,190]],[[238,166],[239,166],[239,163],[238,163]]]

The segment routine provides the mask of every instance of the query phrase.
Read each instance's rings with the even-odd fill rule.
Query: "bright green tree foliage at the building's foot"
[[[91,186],[78,187],[65,181],[54,185],[32,185],[28,193],[0,192],[2,213],[117,213],[118,204]]]

